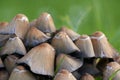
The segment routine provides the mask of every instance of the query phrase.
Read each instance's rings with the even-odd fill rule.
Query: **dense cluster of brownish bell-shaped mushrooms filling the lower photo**
[[[31,22],[24,14],[0,22],[0,47],[0,80],[108,80],[120,70],[120,55],[103,32],[57,30],[46,12]]]

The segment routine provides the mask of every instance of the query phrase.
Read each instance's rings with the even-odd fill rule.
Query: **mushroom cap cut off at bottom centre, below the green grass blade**
[[[65,69],[62,69],[60,72],[56,74],[54,80],[77,80],[77,79],[72,75],[72,73]]]

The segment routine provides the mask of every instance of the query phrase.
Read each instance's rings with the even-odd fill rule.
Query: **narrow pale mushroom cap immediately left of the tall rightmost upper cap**
[[[75,44],[81,50],[82,56],[85,58],[95,57],[93,45],[88,35],[81,35]]]

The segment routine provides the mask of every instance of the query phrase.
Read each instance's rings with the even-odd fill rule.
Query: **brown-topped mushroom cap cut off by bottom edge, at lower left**
[[[9,80],[36,80],[33,74],[26,70],[23,66],[17,66],[12,71]]]

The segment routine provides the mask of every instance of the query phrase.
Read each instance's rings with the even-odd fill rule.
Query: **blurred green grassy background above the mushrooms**
[[[66,25],[80,34],[103,31],[120,51],[120,0],[0,0],[0,21],[23,13],[32,21],[42,12],[53,16],[55,25]]]

